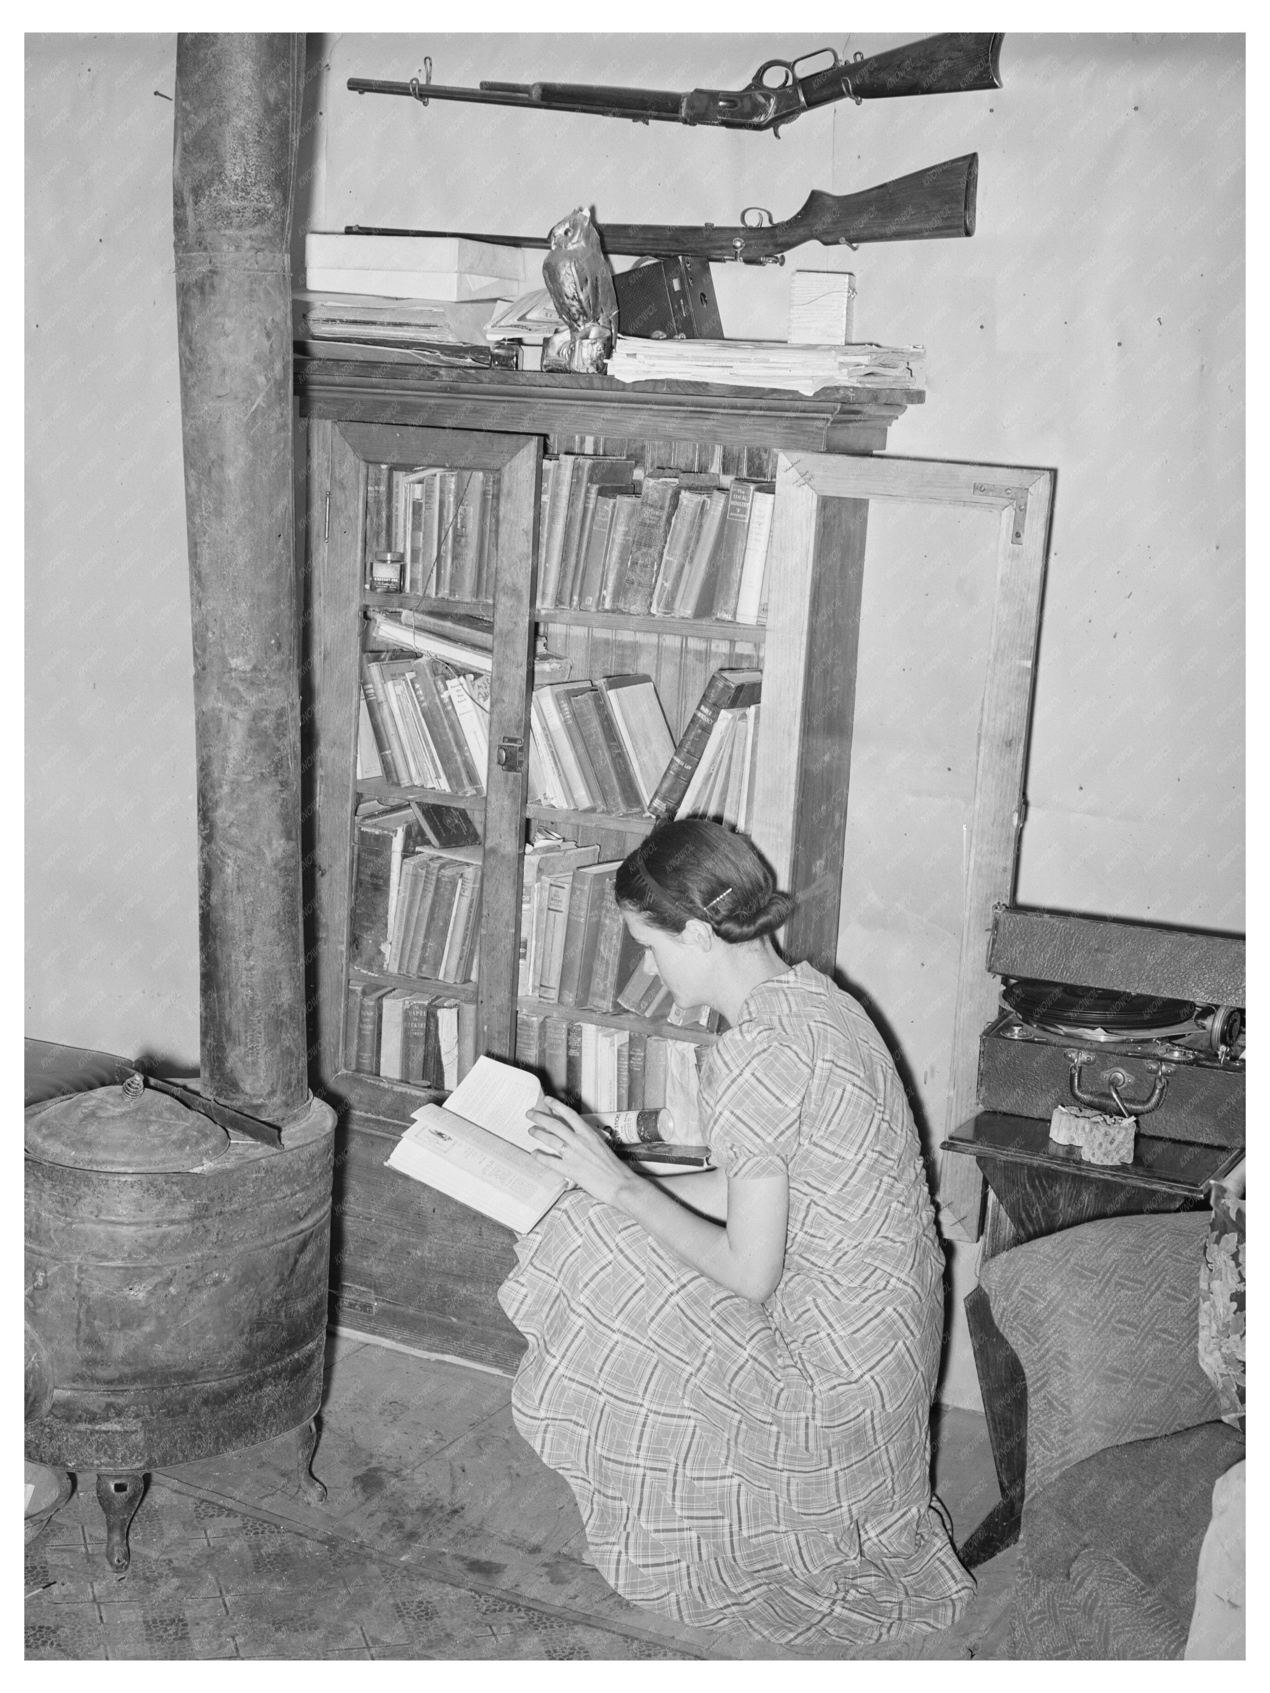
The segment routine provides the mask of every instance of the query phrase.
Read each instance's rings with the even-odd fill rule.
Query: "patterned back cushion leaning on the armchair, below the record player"
[[[1104,1446],[1221,1417],[1197,1348],[1207,1231],[1204,1210],[1104,1217],[982,1265],[1028,1381],[1028,1495]]]

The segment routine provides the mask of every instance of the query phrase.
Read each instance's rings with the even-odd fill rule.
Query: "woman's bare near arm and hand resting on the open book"
[[[577,1112],[552,1100],[532,1111],[530,1134],[557,1168],[596,1199],[633,1217],[655,1241],[720,1287],[762,1304],[781,1280],[789,1221],[789,1182],[782,1175],[728,1177],[726,1222],[720,1227],[687,1210],[652,1182],[633,1175]]]

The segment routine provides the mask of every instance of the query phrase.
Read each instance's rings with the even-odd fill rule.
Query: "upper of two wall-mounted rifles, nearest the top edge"
[[[596,117],[627,117],[635,124],[657,119],[664,124],[715,124],[720,129],[770,129],[803,112],[835,100],[894,100],[901,95],[960,95],[999,88],[1002,36],[926,36],[903,47],[889,47],[865,59],[857,52],[843,61],[833,47],[818,47],[798,59],[767,59],[745,88],[693,88],[671,93],[662,88],[596,88],[589,83],[481,83],[479,88],[444,88],[432,81],[432,59],[425,59],[425,81],[381,83],[351,76],[357,95],[410,95],[428,100],[467,100],[478,105],[525,107],[530,112],[591,112]],[[799,76],[799,66],[830,56],[830,64]]]

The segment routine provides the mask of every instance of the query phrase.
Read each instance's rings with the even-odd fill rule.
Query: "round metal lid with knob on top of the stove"
[[[80,1170],[188,1173],[220,1158],[229,1136],[174,1099],[125,1084],[32,1106],[25,1146],[41,1163]]]

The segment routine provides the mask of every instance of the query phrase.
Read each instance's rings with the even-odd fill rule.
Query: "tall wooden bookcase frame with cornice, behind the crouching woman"
[[[870,452],[919,393],[850,389],[801,400],[676,384],[627,388],[605,378],[454,372],[374,361],[296,361],[305,425],[305,862],[313,1087],[340,1111],[332,1314],[345,1327],[510,1366],[522,1341],[494,1300],[513,1236],[469,1209],[383,1170],[410,1112],[430,1097],[352,1073],[342,1055],[354,874],[356,736],[364,589],[367,466],[498,469],[489,769],[484,799],[456,799],[481,819],[481,962],[471,989],[478,1051],[513,1056],[520,870],[542,821],[601,858],[620,858],[649,819],[598,819],[527,806],[528,699],[537,635],[567,653],[574,676],[645,670],[677,736],[718,667],[762,667],[764,704],[754,838],[798,901],[787,957],[833,970],[850,777],[852,713],[867,499],[811,496],[789,454]],[[588,437],[591,440],[588,440]],[[537,611],[537,518],[544,449],[621,452],[627,442],[774,447],[781,474],[772,521],[765,626],[616,611]],[[437,601],[437,609],[454,609]],[[500,747],[510,750],[500,762]],[[384,784],[362,784],[362,792]],[[417,791],[410,791],[417,792]],[[428,794],[428,799],[444,796]],[[405,982],[406,979],[403,979]],[[427,990],[428,984],[410,982]],[[569,1021],[615,1023],[581,1007],[542,1006]],[[654,1026],[647,1026],[652,1029]],[[711,1040],[701,1029],[660,1034]]]

